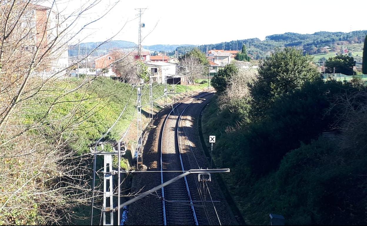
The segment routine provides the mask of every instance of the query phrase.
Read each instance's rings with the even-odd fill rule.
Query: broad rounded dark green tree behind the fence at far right
[[[353,66],[356,65],[355,60],[351,56],[338,55],[329,58],[326,63],[326,73],[342,73],[345,75],[353,75]]]

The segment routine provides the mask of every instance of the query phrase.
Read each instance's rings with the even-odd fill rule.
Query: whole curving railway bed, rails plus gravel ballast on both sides
[[[212,95],[186,97],[159,113],[155,127],[143,139],[144,164],[152,173],[134,175],[132,191],[146,192],[182,171],[210,168],[197,123]],[[206,184],[198,181],[198,174],[191,174],[131,204],[127,224],[234,225],[235,217],[216,179]]]

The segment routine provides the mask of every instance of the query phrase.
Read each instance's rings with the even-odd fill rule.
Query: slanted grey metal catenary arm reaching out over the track
[[[163,171],[164,172],[164,171]],[[156,192],[157,190],[189,175],[189,174],[192,174],[192,173],[196,173],[196,174],[203,174],[203,173],[229,173],[230,170],[229,169],[199,169],[199,170],[189,170],[189,171],[186,171],[185,173],[182,173],[180,175],[178,175],[177,177],[175,178],[172,178],[170,179],[169,181],[167,182],[164,182],[163,184],[159,185],[159,186],[156,186],[155,188],[152,188],[146,192],[143,192],[141,194],[138,194],[137,196],[135,196],[134,198],[124,202],[123,204],[121,204],[118,208],[123,208],[124,206],[126,205],[130,205],[131,203],[134,203],[135,201],[138,201],[139,199],[142,199],[144,198],[145,196],[148,196],[149,194],[152,194],[153,192]]]

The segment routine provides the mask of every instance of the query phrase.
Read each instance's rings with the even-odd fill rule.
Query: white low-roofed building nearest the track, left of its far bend
[[[166,62],[145,62],[150,72],[151,79],[153,82],[160,84],[166,84],[168,77],[175,77],[177,64],[166,63]]]

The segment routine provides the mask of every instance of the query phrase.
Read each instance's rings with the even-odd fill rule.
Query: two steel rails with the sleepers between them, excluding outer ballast
[[[179,148],[179,119],[193,101],[209,94],[208,92],[200,93],[195,97],[175,104],[164,120],[162,133],[160,134],[161,183],[181,174],[181,172],[177,171],[189,170],[188,168],[184,168]],[[164,225],[199,225],[200,222],[196,214],[197,211],[195,210],[195,204],[186,177],[162,188],[161,196],[163,198]]]

